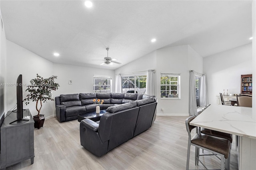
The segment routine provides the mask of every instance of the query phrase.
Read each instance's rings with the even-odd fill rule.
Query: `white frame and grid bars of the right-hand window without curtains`
[[[169,80],[166,80],[165,83],[162,84],[162,77],[169,77]],[[177,77],[177,81],[171,81],[171,77]],[[160,99],[181,99],[180,79],[180,73],[160,73]],[[169,83],[167,83],[168,81]],[[162,89],[163,86],[165,86],[165,89]],[[162,96],[162,92],[165,93],[165,96]],[[172,93],[172,95],[178,95],[178,97],[168,97],[171,92],[175,92],[175,94]]]

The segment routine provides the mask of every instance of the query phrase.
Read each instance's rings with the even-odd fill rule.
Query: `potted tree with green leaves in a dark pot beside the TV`
[[[54,82],[57,76],[52,75],[49,78],[44,79],[40,75],[36,74],[35,79],[30,80],[30,85],[28,85],[26,91],[29,94],[26,96],[27,98],[24,99],[26,101],[26,105],[29,104],[29,101],[36,102],[36,111],[38,114],[33,116],[34,119],[34,128],[40,128],[44,125],[44,115],[40,115],[40,111],[42,108],[42,102],[47,102],[48,100],[53,101],[52,99],[52,91],[57,90],[60,85]],[[40,103],[40,108],[38,108],[38,103]]]

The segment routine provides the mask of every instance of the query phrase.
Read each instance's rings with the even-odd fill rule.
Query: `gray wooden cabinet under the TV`
[[[10,114],[10,115],[9,115]],[[1,169],[31,159],[34,163],[34,120],[29,109],[23,111],[23,116],[30,116],[29,121],[18,121],[16,112],[8,111],[1,127]]]

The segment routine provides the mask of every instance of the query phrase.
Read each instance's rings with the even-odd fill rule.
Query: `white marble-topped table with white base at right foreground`
[[[251,107],[210,105],[190,125],[237,135],[239,170],[256,169],[256,113]]]

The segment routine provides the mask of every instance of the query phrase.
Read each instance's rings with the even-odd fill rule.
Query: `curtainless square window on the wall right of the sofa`
[[[180,99],[180,74],[161,73],[161,98]]]

